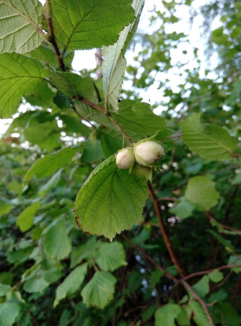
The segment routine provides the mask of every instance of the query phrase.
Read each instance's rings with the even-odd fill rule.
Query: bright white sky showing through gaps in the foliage
[[[44,3],[44,0],[41,0],[42,3]],[[192,2],[192,6],[194,8],[198,8],[199,6],[206,4],[208,0],[194,0]],[[154,5],[156,6],[157,10],[164,10],[163,4],[161,1],[156,1],[156,0],[146,0],[141,19],[138,25],[138,28],[141,30],[145,30],[146,26],[148,25],[149,22],[149,10],[153,9]],[[173,31],[179,31],[183,32],[186,35],[190,35],[189,40],[190,40],[190,45],[180,43],[177,47],[177,49],[173,50],[171,53],[172,56],[172,64],[175,63],[175,61],[181,61],[181,62],[186,62],[189,61],[188,66],[190,69],[193,68],[194,64],[191,60],[191,57],[188,58],[187,60],[187,55],[182,54],[183,50],[188,51],[190,53],[190,56],[192,55],[193,47],[198,48],[198,55],[201,61],[203,62],[203,67],[202,70],[205,70],[206,64],[205,64],[205,56],[204,56],[204,39],[202,39],[200,36],[200,26],[202,24],[202,17],[197,16],[194,18],[193,24],[190,29],[190,23],[189,23],[189,7],[180,5],[178,6],[178,10],[175,13],[175,16],[179,18],[179,22],[175,24],[170,24],[169,26],[166,27],[167,33],[171,33]],[[214,24],[217,26],[219,24],[218,19],[214,21]],[[215,27],[216,27],[215,26]],[[197,37],[198,36],[198,37]],[[74,70],[82,70],[82,69],[92,69],[96,67],[95,64],[95,57],[94,57],[94,52],[95,50],[89,50],[89,51],[76,51],[74,60],[72,63],[72,67]],[[133,53],[132,52],[127,52],[125,55],[127,59],[127,65],[132,64],[133,62]],[[215,61],[215,57],[213,58]],[[178,84],[180,84],[182,81],[177,78],[177,75],[175,73],[175,69],[173,70],[173,75],[168,75],[168,78],[170,79],[171,87],[175,91],[175,89],[178,89]],[[143,97],[143,101],[148,102],[150,104],[154,104],[155,99],[162,97],[162,91],[159,90],[158,87],[159,83],[154,83],[151,85],[148,89],[148,91],[141,91],[140,96]],[[125,82],[123,84],[123,88],[128,88],[128,83]],[[25,111],[25,106],[21,108],[21,111]],[[160,114],[162,111],[162,108],[157,108],[155,109],[156,114]],[[7,127],[9,126],[9,123],[11,123],[12,119],[0,119],[0,134],[3,134],[6,130]]]

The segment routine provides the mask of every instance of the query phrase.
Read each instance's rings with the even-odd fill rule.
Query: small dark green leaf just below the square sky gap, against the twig
[[[82,78],[72,72],[50,71],[50,81],[68,97],[81,96],[91,99],[94,93],[94,84],[90,77]]]

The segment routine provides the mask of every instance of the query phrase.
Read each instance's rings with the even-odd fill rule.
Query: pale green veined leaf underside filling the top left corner
[[[42,5],[37,0],[4,0],[0,3],[0,52],[29,52],[41,43],[38,26]],[[41,34],[41,35],[40,35]]]

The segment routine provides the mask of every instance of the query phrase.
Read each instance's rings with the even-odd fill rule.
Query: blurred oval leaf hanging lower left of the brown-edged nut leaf
[[[59,220],[47,231],[43,245],[45,252],[51,258],[61,260],[70,254],[72,246],[64,220]]]

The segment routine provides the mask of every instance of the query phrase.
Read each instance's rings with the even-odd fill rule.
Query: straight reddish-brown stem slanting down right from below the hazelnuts
[[[171,257],[171,260],[174,263],[174,265],[177,267],[177,270],[178,270],[179,274],[181,275],[181,277],[184,277],[186,275],[186,273],[183,270],[183,268],[181,267],[179,261],[177,260],[176,254],[175,254],[175,252],[173,250],[172,243],[171,243],[171,241],[169,239],[169,236],[168,236],[168,234],[166,232],[166,229],[165,229],[165,225],[164,225],[164,222],[163,222],[163,217],[162,217],[162,212],[161,212],[160,205],[158,203],[156,195],[154,194],[154,191],[152,189],[152,186],[151,186],[150,182],[148,182],[148,188],[149,188],[150,197],[151,197],[151,199],[153,201],[153,204],[154,204],[154,207],[155,207],[156,215],[158,217],[159,227],[160,227],[160,230],[162,232],[162,236],[163,236],[164,242],[166,244],[167,250],[169,252],[169,255]]]

